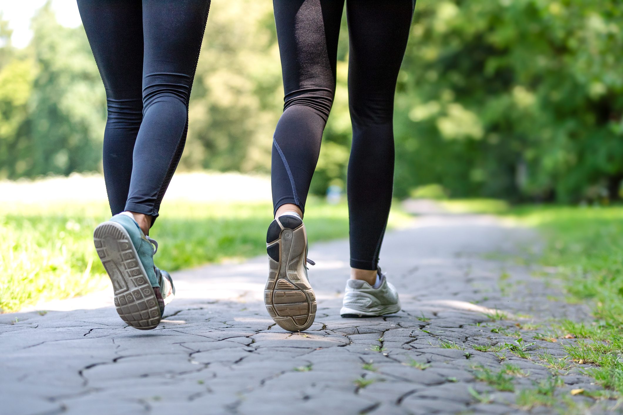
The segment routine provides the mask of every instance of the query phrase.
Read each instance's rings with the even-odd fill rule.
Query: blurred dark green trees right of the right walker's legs
[[[421,1],[397,90],[396,191],[572,202],[619,194],[616,1]]]

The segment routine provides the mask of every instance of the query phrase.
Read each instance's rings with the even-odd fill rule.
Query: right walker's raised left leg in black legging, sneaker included
[[[306,330],[316,314],[307,279],[307,233],[302,215],[335,92],[343,1],[274,0],[285,105],[272,151],[275,220],[266,243],[269,279],[264,298],[275,322]]]

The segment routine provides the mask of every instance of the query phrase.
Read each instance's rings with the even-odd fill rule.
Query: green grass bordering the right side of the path
[[[505,202],[482,199],[442,203],[452,212],[495,213],[541,230],[547,245],[535,260],[551,267],[546,275],[554,272],[566,282],[567,301],[591,305],[594,315],[594,321],[589,324],[564,320],[554,327],[563,338],[569,335],[580,339],[564,346],[568,360],[594,365],[586,373],[599,385],[616,391],[609,396],[620,397],[623,394],[623,207],[510,207]],[[553,335],[535,338],[556,341]],[[559,364],[566,367],[564,361],[556,363],[548,358],[545,361],[554,367]],[[548,404],[551,396],[541,394],[540,399],[539,404]],[[526,403],[526,408],[529,407]]]

